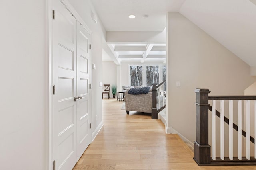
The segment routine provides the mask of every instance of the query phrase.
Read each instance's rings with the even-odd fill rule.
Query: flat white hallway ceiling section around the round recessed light
[[[92,0],[106,31],[163,31],[166,12],[178,11],[185,0]],[[134,14],[135,19],[128,16]],[[148,18],[143,18],[148,15]]]

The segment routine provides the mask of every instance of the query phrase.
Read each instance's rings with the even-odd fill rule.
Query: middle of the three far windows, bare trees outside
[[[159,66],[147,66],[147,86],[159,84]]]

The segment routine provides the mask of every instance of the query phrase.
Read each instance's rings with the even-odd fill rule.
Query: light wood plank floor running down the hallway
[[[256,170],[256,166],[198,166],[178,135],[166,134],[150,114],[121,110],[123,102],[103,100],[104,127],[73,170]]]

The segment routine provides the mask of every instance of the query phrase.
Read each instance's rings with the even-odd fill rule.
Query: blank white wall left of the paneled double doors
[[[0,2],[0,169],[47,169],[46,1]]]

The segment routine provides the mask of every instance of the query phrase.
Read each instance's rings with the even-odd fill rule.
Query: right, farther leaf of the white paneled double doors
[[[77,160],[90,144],[90,34],[77,22]]]

